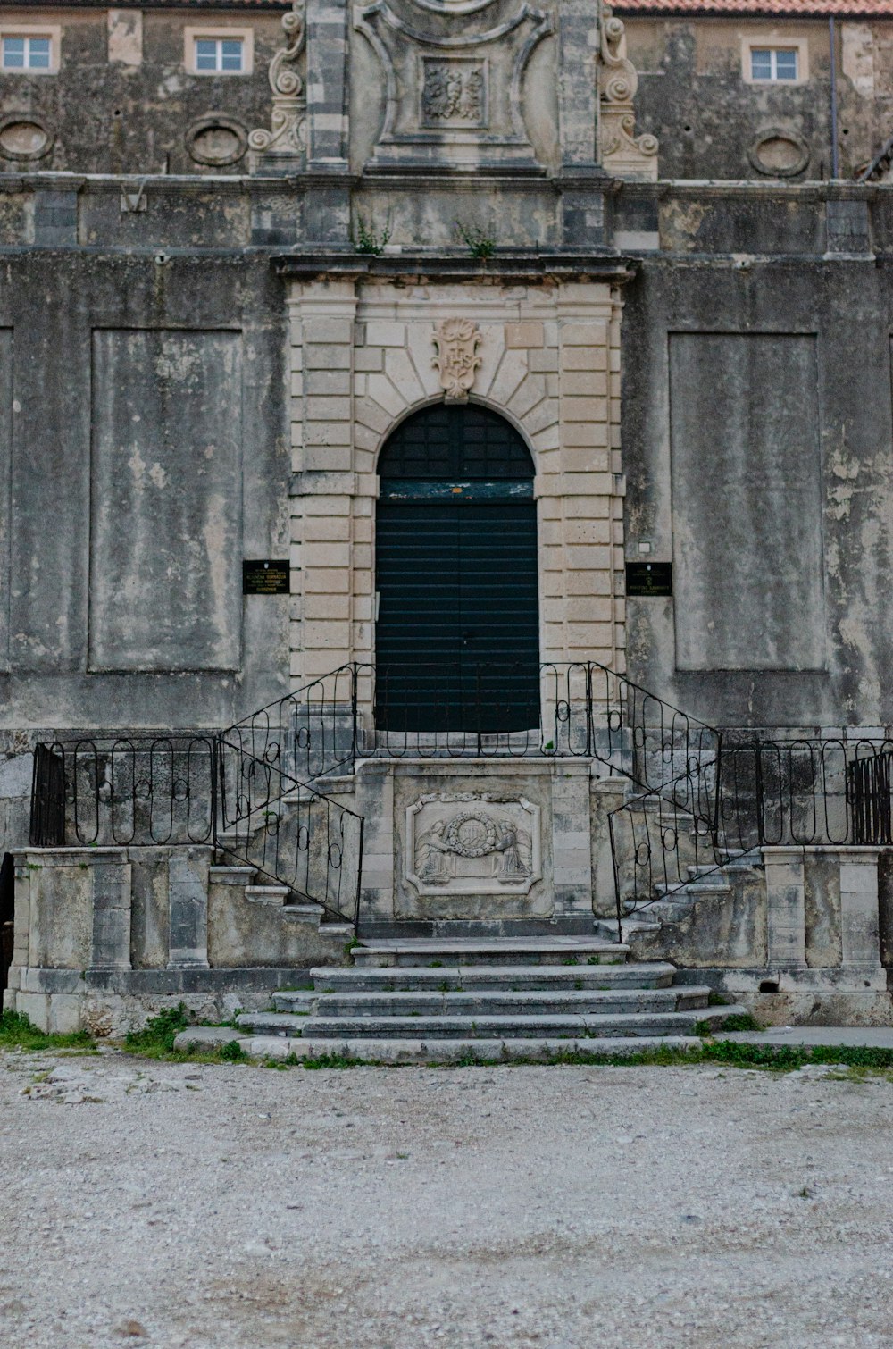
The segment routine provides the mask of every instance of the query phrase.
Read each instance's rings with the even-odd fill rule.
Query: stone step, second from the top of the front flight
[[[318,993],[409,993],[420,992],[537,992],[549,989],[666,989],[676,967],[661,962],[627,965],[467,965],[406,966],[390,969],[310,970]],[[282,1012],[290,1010],[290,993],[274,994]]]

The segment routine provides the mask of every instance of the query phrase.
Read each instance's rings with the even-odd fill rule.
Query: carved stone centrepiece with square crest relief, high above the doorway
[[[372,167],[536,165],[521,81],[549,15],[529,0],[376,0],[353,26],[387,81]]]

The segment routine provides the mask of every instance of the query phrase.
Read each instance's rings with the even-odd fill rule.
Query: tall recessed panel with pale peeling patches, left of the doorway
[[[90,668],[240,664],[241,339],[93,333]]]

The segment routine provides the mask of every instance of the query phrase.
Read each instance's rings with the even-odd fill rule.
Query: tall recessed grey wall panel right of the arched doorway
[[[816,340],[672,333],[676,664],[826,664]]]

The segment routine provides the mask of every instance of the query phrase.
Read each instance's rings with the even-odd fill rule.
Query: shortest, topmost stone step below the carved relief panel
[[[629,947],[598,936],[500,936],[491,940],[402,938],[368,940],[351,952],[356,966],[622,965]]]

